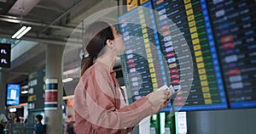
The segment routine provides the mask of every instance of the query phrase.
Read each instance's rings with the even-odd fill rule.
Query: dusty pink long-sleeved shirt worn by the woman
[[[146,97],[120,109],[119,84],[111,70],[96,61],[80,78],[74,92],[77,134],[128,133],[140,120],[160,109]]]

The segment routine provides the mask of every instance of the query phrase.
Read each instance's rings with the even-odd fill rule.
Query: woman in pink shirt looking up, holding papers
[[[118,53],[125,50],[113,25],[96,22],[85,31],[89,59],[74,93],[77,134],[128,133],[140,120],[166,107],[170,92],[151,92],[130,105],[113,72]]]

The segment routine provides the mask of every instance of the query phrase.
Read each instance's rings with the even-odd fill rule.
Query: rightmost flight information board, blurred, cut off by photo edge
[[[256,107],[256,3],[208,3],[230,108]]]

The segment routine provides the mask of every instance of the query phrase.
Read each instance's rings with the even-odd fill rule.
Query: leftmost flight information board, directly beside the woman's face
[[[125,86],[129,102],[157,90],[166,80],[166,65],[160,54],[159,36],[150,1],[119,16],[125,53],[121,55]]]

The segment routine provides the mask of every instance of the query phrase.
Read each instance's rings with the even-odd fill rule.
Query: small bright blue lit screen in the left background
[[[20,85],[19,84],[8,84],[7,85],[7,105],[18,105],[20,104]]]

